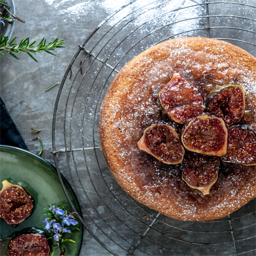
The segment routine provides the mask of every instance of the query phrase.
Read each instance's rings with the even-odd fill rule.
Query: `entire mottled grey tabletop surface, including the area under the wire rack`
[[[99,58],[102,60],[106,60],[110,56],[107,63],[115,66],[118,64],[120,56],[128,52],[131,45],[136,43],[136,40],[140,40],[145,34],[152,32],[151,37],[132,47],[116,66],[117,70],[120,70],[135,55],[167,36],[207,36],[207,30],[196,30],[200,27],[206,27],[207,20],[205,18],[191,19],[188,23],[174,23],[163,28],[160,32],[153,33],[158,26],[164,26],[170,21],[175,22],[188,17],[205,16],[205,5],[200,5],[192,11],[184,9],[179,12],[171,12],[147,23],[147,20],[150,20],[151,17],[187,5],[203,4],[206,2],[204,0],[174,0],[169,1],[169,5],[164,4],[164,0],[15,0],[17,16],[26,21],[25,24],[20,22],[15,24],[13,36],[17,36],[17,41],[27,36],[30,37],[31,41],[40,41],[43,37],[47,41],[52,41],[56,37],[65,41],[65,48],[54,51],[57,56],[44,52],[38,53],[36,55],[38,63],[25,53],[18,54],[20,60],[12,58],[7,53],[0,58],[1,98],[5,102],[6,108],[8,108],[29,150],[35,154],[40,151],[40,143],[39,141],[30,141],[35,136],[31,133],[31,128],[34,130],[42,129],[38,134],[44,144],[44,151],[41,157],[53,165],[54,161],[51,154],[52,119],[59,86],[48,92],[45,92],[45,89],[56,82],[61,82],[68,64],[70,64],[75,52],[78,50],[78,45],[85,40],[89,33],[111,13],[129,2],[135,3],[128,6],[123,12],[117,13],[106,25],[102,26],[101,30],[86,45],[86,50],[91,51],[95,42],[100,40],[101,36],[110,27],[120,22],[113,30],[108,32],[109,37],[106,38],[110,40],[113,36],[113,39],[108,43],[105,39],[100,40],[99,45],[93,50],[95,54],[99,53]],[[229,2],[256,6],[255,0],[231,0]],[[158,9],[155,7],[158,12],[151,11],[145,12],[146,15],[143,14],[145,9],[141,8],[141,6],[143,7],[150,3],[152,5],[147,8],[156,6],[158,3],[161,3],[162,7]],[[136,13],[134,14],[133,11],[136,11]],[[127,13],[132,13],[132,15],[127,18]],[[239,18],[226,17],[231,13],[248,19],[242,20],[242,23]],[[210,19],[212,26],[238,26],[253,32],[249,33],[248,31],[234,29],[212,29],[211,36],[244,39],[251,44],[243,44],[239,41],[232,41],[231,43],[245,48],[256,56],[256,47],[252,45],[255,44],[255,22],[250,20],[255,19],[255,8],[248,8],[245,5],[230,5],[227,8],[221,4],[214,5],[214,8],[209,8],[209,15],[220,14],[226,16],[222,18],[212,17]],[[139,18],[133,20],[136,16]],[[131,22],[122,28],[128,21]],[[135,27],[140,27],[140,29],[126,38]],[[179,34],[188,30],[191,31]],[[122,41],[121,45],[119,45],[120,41]],[[105,43],[107,45],[104,47],[104,51],[100,52]],[[67,79],[61,93],[62,96],[57,111],[57,134],[55,137],[57,149],[65,147],[63,134],[64,117],[67,120],[67,131],[69,131],[68,126],[72,124],[71,135],[66,136],[68,147],[70,142],[72,142],[72,148],[81,148],[83,146],[89,148],[94,146],[93,143],[95,143],[96,147],[99,147],[97,129],[100,102],[107,86],[116,73],[113,72],[111,74],[112,70],[106,66],[100,70],[103,64],[95,61],[92,68],[90,68],[91,73],[88,72],[86,75],[81,75],[79,73],[80,61],[85,61],[86,57],[85,53],[79,54],[72,68],[72,79],[77,72],[77,79],[73,84],[73,88],[71,89],[72,79]],[[83,65],[83,72],[85,72],[92,59],[86,59]],[[99,76],[97,77],[98,73]],[[108,78],[109,75],[110,77]],[[83,77],[85,78],[83,79]],[[103,82],[106,82],[106,87],[103,88],[103,93],[98,99]],[[77,98],[75,98],[79,83],[81,88]],[[95,87],[93,87],[88,100],[89,107],[85,113],[85,120],[81,121],[81,115],[84,114],[82,109],[84,109],[86,96],[89,93],[89,86],[93,83]],[[68,98],[69,92],[71,92],[71,95]],[[67,102],[68,111],[65,116],[64,109],[67,98],[69,99]],[[74,106],[72,106],[73,102]],[[99,104],[97,105],[95,102],[99,102]],[[72,122],[70,119],[71,109],[73,109]],[[94,112],[96,113],[95,116]],[[81,130],[81,125],[83,130]],[[82,141],[84,144],[81,142],[81,137],[84,140]],[[92,140],[92,137],[94,140]],[[233,236],[236,240],[239,240],[235,249],[231,237],[230,222],[227,217],[215,223],[179,222],[163,215],[158,215],[156,211],[134,202],[114,181],[99,149],[86,151],[86,156],[82,151],[68,153],[67,155],[64,153],[59,154],[58,162],[61,172],[70,181],[78,195],[87,227],[95,234],[95,237],[99,238],[103,244],[106,244],[117,255],[181,255],[180,253],[186,255],[232,255],[236,253],[236,250],[237,253],[248,251],[244,255],[255,255],[255,200],[252,200],[231,215],[233,229],[235,230]],[[144,216],[147,217],[144,218]],[[153,224],[154,229],[147,228]],[[207,233],[209,231],[212,233]],[[146,239],[143,239],[145,236]],[[182,243],[183,241],[189,242]],[[217,245],[209,247],[207,244],[211,244],[213,241]],[[205,245],[198,245],[197,243],[205,243]],[[138,249],[134,251],[134,254],[129,254],[133,251],[134,246],[137,246]],[[80,255],[110,255],[110,253],[85,230]]]

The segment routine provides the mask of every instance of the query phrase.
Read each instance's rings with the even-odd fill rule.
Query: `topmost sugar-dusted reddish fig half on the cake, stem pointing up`
[[[198,89],[175,73],[158,94],[162,112],[177,123],[186,123],[204,111],[204,100]]]

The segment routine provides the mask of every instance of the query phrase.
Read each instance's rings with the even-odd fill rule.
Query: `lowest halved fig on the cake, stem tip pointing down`
[[[218,179],[218,170],[219,157],[186,152],[182,179],[191,188],[207,195]]]

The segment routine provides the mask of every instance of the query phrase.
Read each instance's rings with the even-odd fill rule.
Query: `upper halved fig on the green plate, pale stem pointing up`
[[[34,207],[34,199],[22,186],[3,181],[0,191],[0,218],[16,225],[28,218]]]

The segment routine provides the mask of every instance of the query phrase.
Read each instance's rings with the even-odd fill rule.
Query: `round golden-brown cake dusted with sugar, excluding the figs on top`
[[[203,95],[217,85],[243,85],[246,109],[240,124],[256,132],[256,58],[225,41],[177,38],[150,47],[116,75],[100,111],[99,135],[107,165],[130,196],[178,220],[223,218],[256,196],[256,166],[220,164],[209,195],[182,179],[182,164],[168,165],[140,150],[143,130],[161,120],[158,93],[174,73]]]

